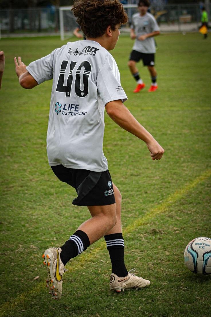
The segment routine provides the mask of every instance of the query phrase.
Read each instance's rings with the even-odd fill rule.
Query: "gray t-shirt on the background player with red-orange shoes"
[[[155,53],[156,49],[153,37],[148,37],[144,41],[138,40],[138,37],[141,35],[160,30],[154,16],[148,12],[144,16],[141,16],[140,13],[133,14],[131,29],[135,30],[137,36],[133,45],[133,50],[146,54]]]

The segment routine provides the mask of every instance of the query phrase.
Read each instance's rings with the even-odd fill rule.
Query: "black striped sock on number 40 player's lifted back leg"
[[[87,234],[82,230],[77,230],[69,240],[61,247],[61,261],[65,265],[70,259],[78,256],[90,246]]]

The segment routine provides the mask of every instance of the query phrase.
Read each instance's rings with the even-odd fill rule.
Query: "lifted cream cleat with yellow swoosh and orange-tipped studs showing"
[[[49,248],[45,250],[43,262],[47,266],[48,279],[46,287],[52,298],[59,300],[62,295],[62,275],[66,271],[64,264],[60,259],[61,248]]]

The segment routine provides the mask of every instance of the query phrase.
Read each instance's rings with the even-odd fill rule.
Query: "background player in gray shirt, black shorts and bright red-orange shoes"
[[[154,16],[147,12],[149,6],[150,2],[148,0],[139,1],[139,13],[135,13],[132,16],[130,36],[132,40],[135,39],[135,43],[129,57],[128,66],[134,79],[137,81],[137,87],[133,91],[134,93],[138,93],[145,87],[145,84],[140,78],[138,68],[136,67],[136,63],[140,60],[143,61],[144,66],[147,66],[150,72],[152,84],[148,91],[151,92],[158,89],[157,72],[154,67],[156,47],[153,36],[159,35],[160,29]]]

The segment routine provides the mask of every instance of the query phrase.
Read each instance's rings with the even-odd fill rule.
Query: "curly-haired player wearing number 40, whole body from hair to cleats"
[[[125,267],[121,194],[112,183],[102,151],[104,108],[119,126],[146,142],[153,160],[164,153],[122,103],[127,96],[108,52],[115,48],[121,24],[127,22],[122,4],[118,0],[78,0],[72,10],[87,40],[68,42],[28,67],[20,57],[18,62],[15,58],[22,87],[31,89],[53,79],[47,131],[49,165],[61,181],[76,189],[73,204],[87,206],[91,214],[63,246],[49,248],[43,255],[47,287],[54,299],[62,294],[65,264],[102,236],[112,263],[110,289],[121,292],[150,284]]]

